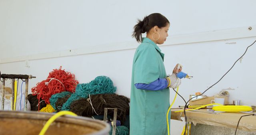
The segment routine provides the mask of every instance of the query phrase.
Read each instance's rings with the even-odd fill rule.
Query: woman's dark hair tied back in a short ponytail
[[[149,32],[154,26],[159,28],[165,27],[170,24],[168,19],[160,13],[153,13],[145,16],[143,20],[138,19],[138,24],[134,26],[132,37],[135,37],[138,42],[142,41],[142,33]]]

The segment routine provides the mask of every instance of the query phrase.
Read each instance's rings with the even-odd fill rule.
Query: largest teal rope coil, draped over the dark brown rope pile
[[[115,93],[116,87],[112,80],[106,76],[98,76],[89,83],[79,83],[76,86],[76,92],[62,105],[62,110],[69,111],[70,104],[81,98],[88,98],[90,95]]]

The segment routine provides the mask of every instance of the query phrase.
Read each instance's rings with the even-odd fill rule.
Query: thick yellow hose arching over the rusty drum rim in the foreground
[[[55,115],[53,115],[44,125],[44,127],[42,128],[42,130],[40,131],[39,135],[44,135],[44,133],[47,131],[48,127],[51,125],[51,123],[53,121],[55,121],[55,119],[57,119],[58,117],[62,116],[62,115],[72,115],[72,116],[77,116],[75,113],[72,113],[71,111],[60,111],[58,113],[56,113]]]

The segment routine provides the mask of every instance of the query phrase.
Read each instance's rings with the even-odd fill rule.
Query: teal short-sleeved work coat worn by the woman
[[[166,113],[170,106],[169,89],[150,91],[136,89],[134,85],[148,84],[166,76],[164,54],[152,40],[142,38],[142,43],[134,54],[132,66],[130,135],[168,134]]]

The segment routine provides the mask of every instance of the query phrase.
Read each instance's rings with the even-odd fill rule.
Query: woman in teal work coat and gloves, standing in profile
[[[132,66],[130,100],[130,135],[166,135],[166,113],[170,106],[169,87],[180,85],[173,70],[166,75],[164,54],[156,44],[163,44],[168,36],[170,22],[162,14],[146,16],[134,26],[133,37],[141,44],[136,49]],[[146,32],[146,38],[142,33]],[[170,116],[169,116],[170,117]]]

